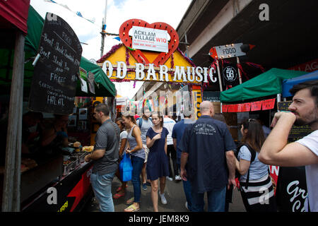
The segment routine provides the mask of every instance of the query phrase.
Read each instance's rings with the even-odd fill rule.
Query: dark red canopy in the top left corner
[[[11,23],[27,34],[29,6],[30,0],[0,1],[0,27],[8,27]]]

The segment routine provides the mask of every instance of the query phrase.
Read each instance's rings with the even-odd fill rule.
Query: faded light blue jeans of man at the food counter
[[[114,203],[112,201],[112,179],[114,173],[90,175],[90,183],[95,194],[95,198],[100,203],[101,212],[114,212]]]

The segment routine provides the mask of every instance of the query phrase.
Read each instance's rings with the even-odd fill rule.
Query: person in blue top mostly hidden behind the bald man
[[[182,153],[182,150],[178,147],[178,145],[181,141],[182,135],[184,133],[184,129],[186,128],[187,124],[193,123],[193,121],[190,118],[191,118],[191,114],[189,116],[184,115],[184,119],[177,122],[177,124],[175,124],[175,126],[173,126],[173,129],[172,129],[173,145],[175,146],[175,150],[177,150],[178,169],[180,169],[180,157]],[[188,210],[191,211],[192,210],[192,194],[191,194],[192,186],[189,180],[187,181],[182,180],[182,183],[183,183],[184,194],[187,199],[186,207],[188,208]]]

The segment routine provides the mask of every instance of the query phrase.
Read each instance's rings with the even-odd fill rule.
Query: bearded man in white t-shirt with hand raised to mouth
[[[308,198],[305,208],[318,211],[318,81],[294,85],[290,89],[293,102],[290,112],[277,112],[271,126],[273,130],[266,138],[259,153],[259,160],[268,165],[296,167],[305,165]],[[287,143],[291,127],[310,125],[308,136]],[[308,203],[307,203],[308,202]]]

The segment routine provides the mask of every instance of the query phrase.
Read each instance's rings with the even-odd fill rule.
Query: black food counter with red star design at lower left
[[[84,157],[93,146],[79,142],[63,148],[52,157],[21,173],[21,210],[25,212],[72,212],[83,208],[93,196],[90,186],[92,162]],[[30,161],[32,162],[32,161]],[[28,167],[28,166],[25,166]],[[25,168],[23,167],[23,168]]]

